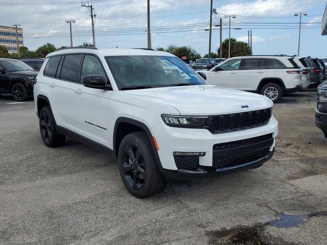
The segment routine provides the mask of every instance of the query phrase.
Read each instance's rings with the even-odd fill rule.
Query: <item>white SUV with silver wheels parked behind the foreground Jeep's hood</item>
[[[283,93],[302,89],[302,70],[294,57],[243,56],[230,58],[209,70],[201,70],[209,84],[256,92],[277,102]]]

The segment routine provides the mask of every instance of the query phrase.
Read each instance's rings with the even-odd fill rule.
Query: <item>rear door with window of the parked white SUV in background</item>
[[[255,91],[260,81],[267,77],[266,59],[243,59],[239,74],[239,90]]]

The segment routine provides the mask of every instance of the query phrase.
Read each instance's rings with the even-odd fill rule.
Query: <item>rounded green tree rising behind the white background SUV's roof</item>
[[[223,41],[222,49],[222,58],[228,58],[228,38]],[[251,55],[251,53],[251,48],[246,42],[230,38],[230,57]],[[220,55],[220,48],[218,48],[218,55]]]

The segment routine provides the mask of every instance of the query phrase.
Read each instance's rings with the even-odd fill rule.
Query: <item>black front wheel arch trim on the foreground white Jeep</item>
[[[146,134],[149,137],[151,148],[154,152],[156,161],[157,161],[159,167],[161,167],[159,155],[156,150],[156,145],[154,144],[153,135],[152,135],[150,129],[143,122],[132,119],[132,118],[128,118],[128,117],[119,117],[116,120],[115,125],[114,125],[112,143],[113,143],[113,151],[114,151],[117,159],[118,159],[118,150],[119,150],[120,143],[122,142],[122,139],[127,134],[130,134],[132,132],[137,132],[137,131],[146,132]]]

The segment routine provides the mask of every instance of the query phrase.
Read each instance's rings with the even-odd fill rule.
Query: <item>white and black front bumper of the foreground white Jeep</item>
[[[252,129],[246,129],[243,131],[235,131],[229,133],[213,134],[206,129],[186,129],[186,128],[174,128],[167,126],[164,122],[158,124],[151,129],[152,135],[155,136],[158,143],[159,151],[158,157],[161,163],[161,173],[166,178],[174,179],[184,179],[186,178],[206,178],[212,175],[221,175],[223,173],[229,173],[230,171],[242,170],[250,167],[255,167],[262,164],[264,161],[268,160],[273,153],[275,145],[275,137],[278,134],[278,122],[272,116],[267,125],[256,127]],[[269,145],[266,145],[268,152],[259,161],[254,162],[243,162],[237,166],[232,166],[231,168],[219,168],[216,171],[215,164],[215,154],[217,154],[213,146],[220,143],[242,141],[249,138],[259,137],[263,135],[271,134],[272,141]],[[252,151],[260,151],[261,146],[252,149]],[[219,153],[227,154],[230,157],[237,154],[238,149],[233,149],[234,151],[228,150],[228,152]],[[240,152],[248,154],[251,149],[239,149],[246,150],[246,152]],[[204,156],[198,157],[198,164],[200,170],[193,171],[183,171],[183,169],[178,169],[175,163],[175,158],[173,152],[201,152],[205,153]],[[258,159],[255,159],[258,160]],[[245,164],[245,165],[244,165]],[[215,165],[216,166],[216,165]],[[209,169],[209,170],[208,170]],[[214,169],[214,172],[211,173]],[[203,171],[202,171],[203,170]],[[179,177],[180,176],[180,177]],[[184,176],[184,177],[183,177]],[[193,176],[193,177],[191,177]]]

